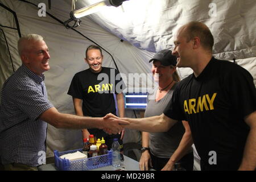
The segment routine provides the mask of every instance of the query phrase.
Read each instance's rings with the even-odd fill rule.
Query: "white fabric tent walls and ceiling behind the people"
[[[98,1],[75,2],[80,9]],[[39,3],[45,3],[46,16],[38,15]],[[118,68],[127,77],[129,73],[150,73],[148,60],[155,52],[170,49],[177,28],[192,20],[207,24],[212,31],[213,55],[222,60],[236,59],[256,85],[255,0],[129,0],[82,17],[80,26],[73,30],[61,24],[70,18],[71,5],[72,0],[0,0],[0,89],[21,65],[16,48],[19,31],[20,35],[42,35],[51,55],[51,69],[45,72],[48,98],[59,111],[74,114],[67,91],[75,73],[88,68],[84,62],[86,47],[100,45],[104,48],[103,66]],[[178,72],[182,79],[192,70],[179,68]],[[126,84],[128,88],[146,86],[138,80]],[[134,113],[140,117],[139,111],[126,110],[127,117],[135,117]],[[81,141],[80,130],[48,125],[47,156],[53,155],[52,150],[81,148]],[[127,130],[123,141],[139,143],[139,131]]]

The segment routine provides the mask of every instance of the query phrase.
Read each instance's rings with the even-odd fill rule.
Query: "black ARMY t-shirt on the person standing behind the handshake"
[[[86,69],[73,77],[68,94],[82,100],[82,111],[90,117],[116,114],[113,94],[121,93],[125,84],[117,69],[102,67],[100,73]]]

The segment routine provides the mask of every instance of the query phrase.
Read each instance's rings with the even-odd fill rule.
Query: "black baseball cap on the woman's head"
[[[164,66],[176,66],[177,64],[177,57],[172,55],[172,52],[168,49],[163,49],[162,51],[156,52],[155,56],[149,60],[149,63],[154,60],[160,61],[160,63]]]

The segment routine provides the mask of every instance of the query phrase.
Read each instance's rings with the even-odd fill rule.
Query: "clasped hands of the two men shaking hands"
[[[120,134],[123,127],[130,124],[128,121],[124,121],[112,113],[106,114],[105,117],[103,117],[103,120],[104,125],[106,124],[103,127],[103,130],[107,134]]]

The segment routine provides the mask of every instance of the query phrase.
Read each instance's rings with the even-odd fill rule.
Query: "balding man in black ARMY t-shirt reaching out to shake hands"
[[[175,36],[177,67],[192,75],[177,85],[160,116],[131,119],[127,128],[167,131],[188,121],[202,170],[254,170],[256,167],[256,90],[246,69],[212,57],[213,36],[207,26],[191,22]],[[114,117],[109,114],[107,117]],[[111,132],[111,131],[109,131]]]

